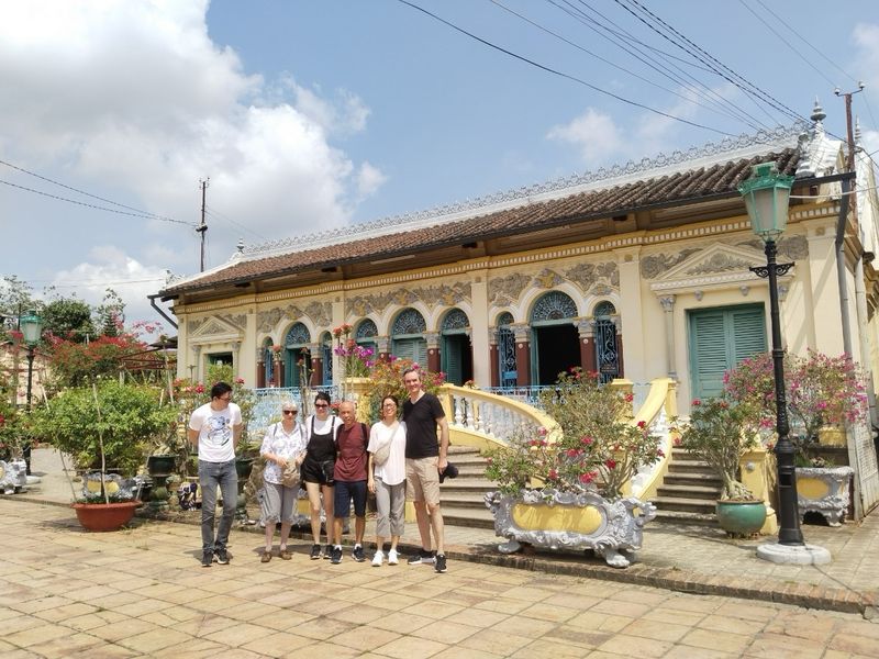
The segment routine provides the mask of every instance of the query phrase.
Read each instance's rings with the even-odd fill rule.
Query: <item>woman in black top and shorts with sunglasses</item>
[[[336,459],[336,428],[342,420],[330,413],[330,396],[320,392],[314,396],[314,414],[305,421],[308,448],[302,462],[302,482],[309,494],[311,512],[312,560],[321,557],[321,494],[326,524],[324,558],[330,558],[330,534],[333,528],[333,466]]]

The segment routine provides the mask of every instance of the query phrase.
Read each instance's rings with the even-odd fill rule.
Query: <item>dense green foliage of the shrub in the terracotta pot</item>
[[[146,446],[176,416],[159,389],[103,380],[63,391],[35,409],[32,422],[34,435],[73,457],[77,468],[131,476],[143,465]]]

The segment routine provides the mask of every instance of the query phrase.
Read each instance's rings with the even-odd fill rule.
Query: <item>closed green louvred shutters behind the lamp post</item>
[[[690,373],[693,398],[723,392],[723,376],[736,364],[766,351],[763,305],[690,313]]]

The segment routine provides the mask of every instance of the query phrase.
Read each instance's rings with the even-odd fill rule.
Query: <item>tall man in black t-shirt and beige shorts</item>
[[[445,527],[439,510],[439,474],[448,465],[448,422],[439,399],[422,389],[421,372],[418,369],[410,368],[403,372],[403,384],[409,392],[409,399],[403,403],[405,489],[407,496],[415,506],[422,547],[416,556],[409,559],[409,563],[434,563],[437,572],[445,572]],[[431,527],[436,546],[435,557],[431,552]]]

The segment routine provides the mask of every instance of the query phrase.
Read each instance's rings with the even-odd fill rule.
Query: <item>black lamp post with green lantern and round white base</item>
[[[749,179],[739,186],[750,226],[765,245],[766,266],[750,268],[757,277],[769,281],[769,317],[772,328],[772,370],[776,395],[776,462],[778,465],[778,543],[761,545],[757,556],[772,562],[820,565],[831,560],[826,549],[806,545],[800,529],[800,511],[797,496],[794,448],[790,440],[788,402],[785,394],[785,349],[781,347],[781,321],[778,304],[778,276],[786,275],[793,264],[776,260],[776,241],[788,224],[788,203],[793,186],[792,176],[783,176],[775,163],[755,165]]]

